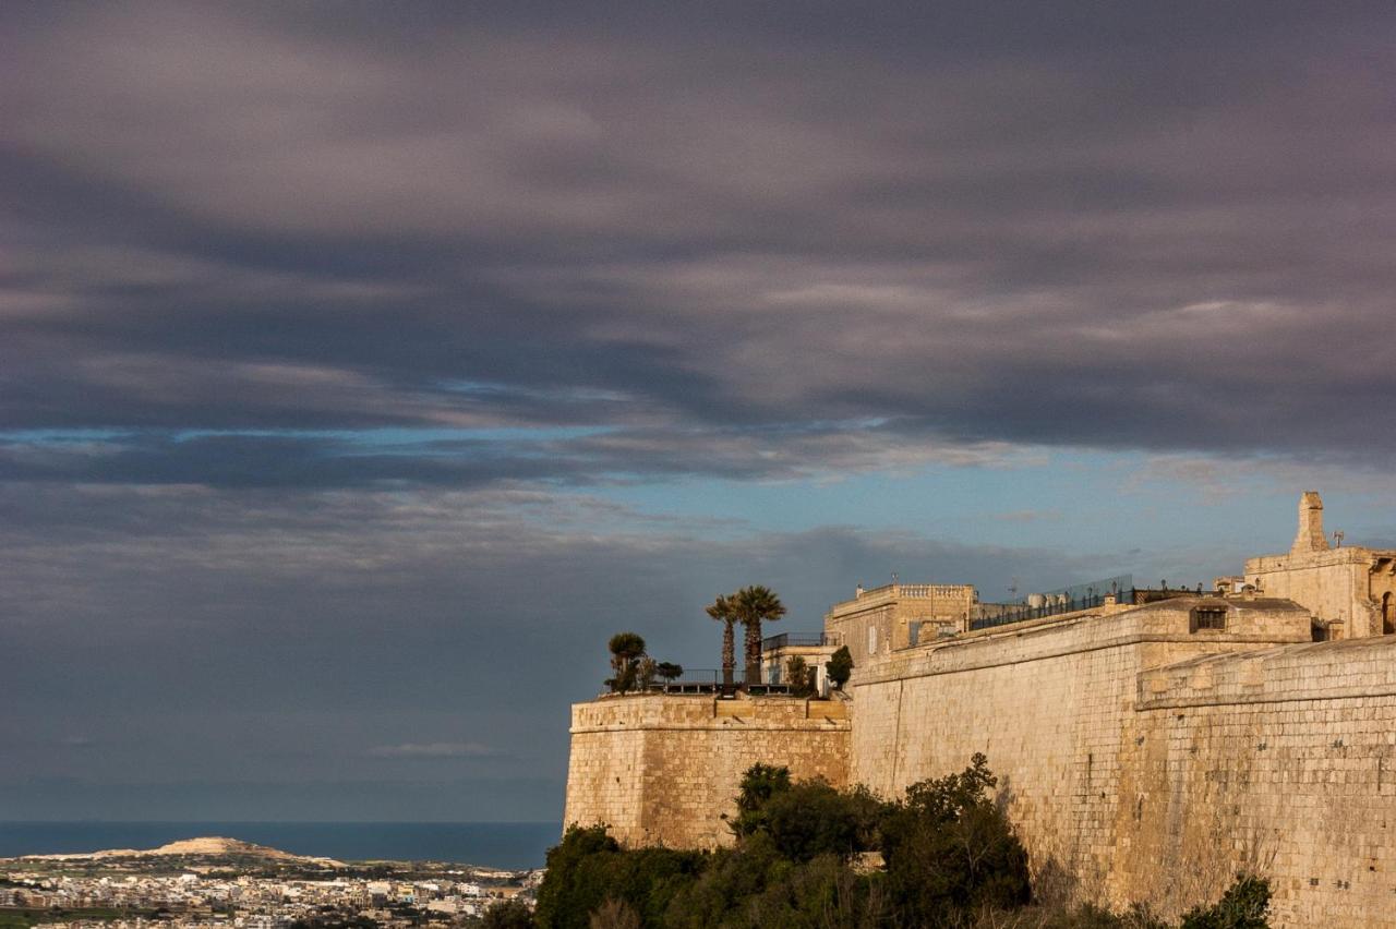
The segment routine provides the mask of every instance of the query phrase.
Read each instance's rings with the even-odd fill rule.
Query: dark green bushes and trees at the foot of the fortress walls
[[[547,855],[539,929],[872,929],[1040,926],[1163,929],[1135,909],[1030,905],[1027,855],[990,796],[983,755],[888,802],[866,790],[747,770],[733,848],[625,851],[604,827],[572,827]],[[879,861],[878,861],[879,859]],[[1242,877],[1182,929],[1259,929],[1269,887]],[[521,925],[521,923],[511,923]]]

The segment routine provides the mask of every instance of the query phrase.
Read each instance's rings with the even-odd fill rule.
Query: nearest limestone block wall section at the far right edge
[[[1120,893],[1181,904],[1254,868],[1277,925],[1396,926],[1396,639],[1150,670],[1134,716]]]

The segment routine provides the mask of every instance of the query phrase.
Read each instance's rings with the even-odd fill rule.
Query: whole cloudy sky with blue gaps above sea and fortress
[[[0,819],[558,820],[606,639],[1396,545],[1388,3],[0,6]]]

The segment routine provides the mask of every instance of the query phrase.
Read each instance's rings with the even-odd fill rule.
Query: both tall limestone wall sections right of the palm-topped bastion
[[[984,752],[1034,870],[1078,896],[1175,914],[1255,869],[1279,925],[1396,926],[1396,639],[1302,644],[1284,601],[1202,639],[1196,603],[867,668],[853,780],[895,795]]]

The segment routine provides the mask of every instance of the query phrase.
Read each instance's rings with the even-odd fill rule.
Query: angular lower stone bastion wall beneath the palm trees
[[[785,764],[797,780],[849,780],[846,704],[794,697],[603,697],[572,706],[563,822],[606,823],[625,845],[732,841],[741,774]]]

